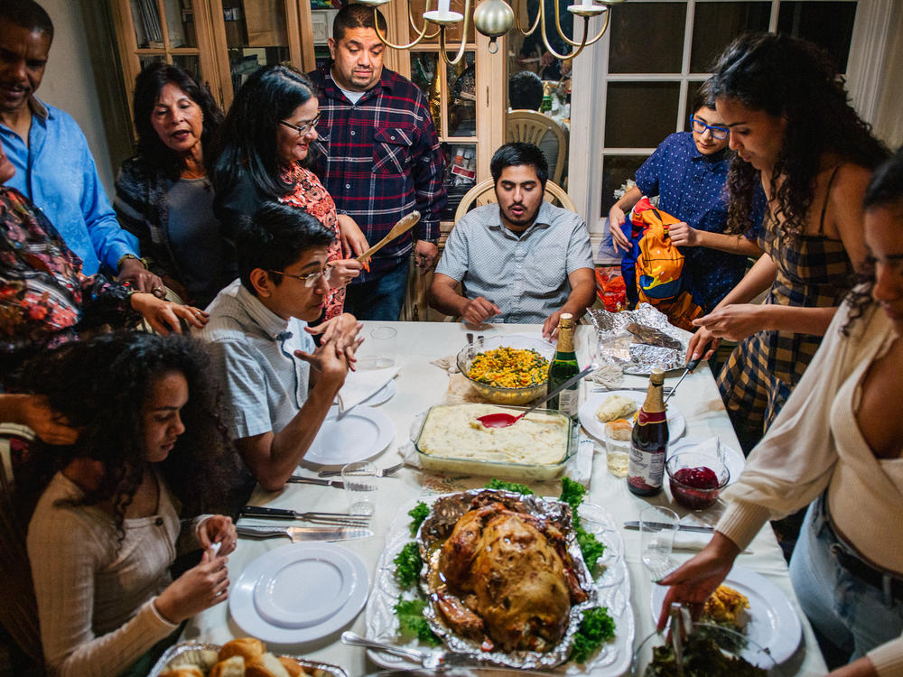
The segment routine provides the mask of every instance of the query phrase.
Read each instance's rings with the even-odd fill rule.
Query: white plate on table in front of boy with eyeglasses
[[[320,432],[304,455],[305,461],[324,466],[342,466],[372,459],[395,440],[395,426],[385,413],[358,404],[341,418],[338,407],[330,409]]]

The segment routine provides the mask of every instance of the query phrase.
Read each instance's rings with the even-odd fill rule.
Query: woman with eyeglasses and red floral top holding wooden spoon
[[[233,235],[268,200],[303,209],[335,233],[323,306],[324,320],[330,320],[342,313],[345,285],[360,274],[361,264],[346,256],[362,254],[368,243],[353,218],[337,214],[329,192],[307,169],[319,110],[306,75],[286,66],[256,70],[219,129],[212,174],[214,209]]]

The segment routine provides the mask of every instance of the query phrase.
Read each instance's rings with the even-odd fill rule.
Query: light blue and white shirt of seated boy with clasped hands
[[[219,292],[207,311],[210,320],[198,333],[210,342],[225,380],[233,439],[281,431],[307,399],[311,367],[294,357],[295,350],[315,348],[307,323],[283,320],[240,280]]]

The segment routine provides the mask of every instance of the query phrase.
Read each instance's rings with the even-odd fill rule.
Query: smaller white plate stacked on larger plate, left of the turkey
[[[270,625],[322,623],[344,606],[358,585],[351,561],[330,548],[301,553],[278,548],[273,553],[254,585],[254,607]]]

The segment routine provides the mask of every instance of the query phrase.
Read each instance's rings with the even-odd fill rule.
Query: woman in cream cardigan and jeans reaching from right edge
[[[769,517],[811,503],[790,579],[825,656],[852,661],[838,677],[903,665],[903,149],[875,172],[864,209],[868,281],[724,494],[712,541],[661,581],[673,586],[663,608],[701,609]]]

